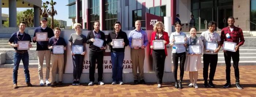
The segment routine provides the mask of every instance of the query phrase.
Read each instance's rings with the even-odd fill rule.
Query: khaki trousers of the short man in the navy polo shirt
[[[64,54],[52,54],[52,82],[56,81],[56,73],[59,69],[59,81],[63,78]]]

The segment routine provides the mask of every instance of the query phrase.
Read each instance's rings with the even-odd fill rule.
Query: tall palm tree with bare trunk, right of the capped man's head
[[[54,25],[54,19],[53,16],[57,15],[57,11],[54,9],[54,5],[56,5],[56,2],[53,2],[53,0],[51,0],[50,2],[46,1],[45,2],[47,5],[50,4],[50,11],[48,11],[48,15],[50,15],[52,17],[51,19],[51,28],[53,29],[53,25]]]

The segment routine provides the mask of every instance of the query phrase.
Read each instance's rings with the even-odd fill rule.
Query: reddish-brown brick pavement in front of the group
[[[33,87],[26,87],[25,75],[22,68],[18,73],[18,89],[12,88],[12,69],[0,68],[0,97],[8,96],[137,96],[137,97],[156,97],[156,96],[256,96],[256,66],[240,66],[240,82],[244,89],[239,90],[234,87],[234,69],[231,67],[231,83],[232,87],[224,89],[225,84],[225,66],[217,66],[214,84],[216,88],[203,88],[203,74],[199,71],[198,89],[188,88],[188,72],[184,73],[183,89],[174,88],[173,83],[164,83],[163,88],[157,88],[156,83],[147,83],[147,85],[133,85],[125,83],[125,85],[104,86],[93,85],[87,86],[83,83],[79,86],[64,84],[62,86],[39,86],[37,68],[30,68],[31,84]],[[45,68],[44,68],[45,70]],[[45,71],[44,71],[45,72]],[[179,71],[178,71],[179,72]],[[165,76],[164,76],[165,77]],[[179,77],[179,76],[178,76]]]

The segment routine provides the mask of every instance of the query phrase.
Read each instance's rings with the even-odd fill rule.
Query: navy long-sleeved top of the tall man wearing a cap
[[[43,29],[41,26],[35,28],[35,33],[36,32],[47,32],[47,38],[51,38],[54,36],[53,30],[49,27],[46,27],[45,29]],[[35,37],[35,33],[34,33],[34,37]],[[37,42],[34,41],[33,42]],[[37,42],[37,51],[41,51],[41,50],[49,50],[48,49],[48,41],[38,41]]]

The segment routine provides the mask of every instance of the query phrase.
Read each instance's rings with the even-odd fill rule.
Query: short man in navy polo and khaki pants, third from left
[[[60,37],[60,28],[54,28],[54,36],[49,39],[48,49],[52,53],[52,82],[53,86],[57,85],[56,82],[56,73],[59,67],[59,85],[62,85],[63,78],[63,67],[64,67],[64,50],[66,50],[66,42],[63,38]],[[53,48],[53,46],[63,46],[62,50]],[[54,51],[54,50],[57,51]],[[54,51],[54,52],[53,52]]]

